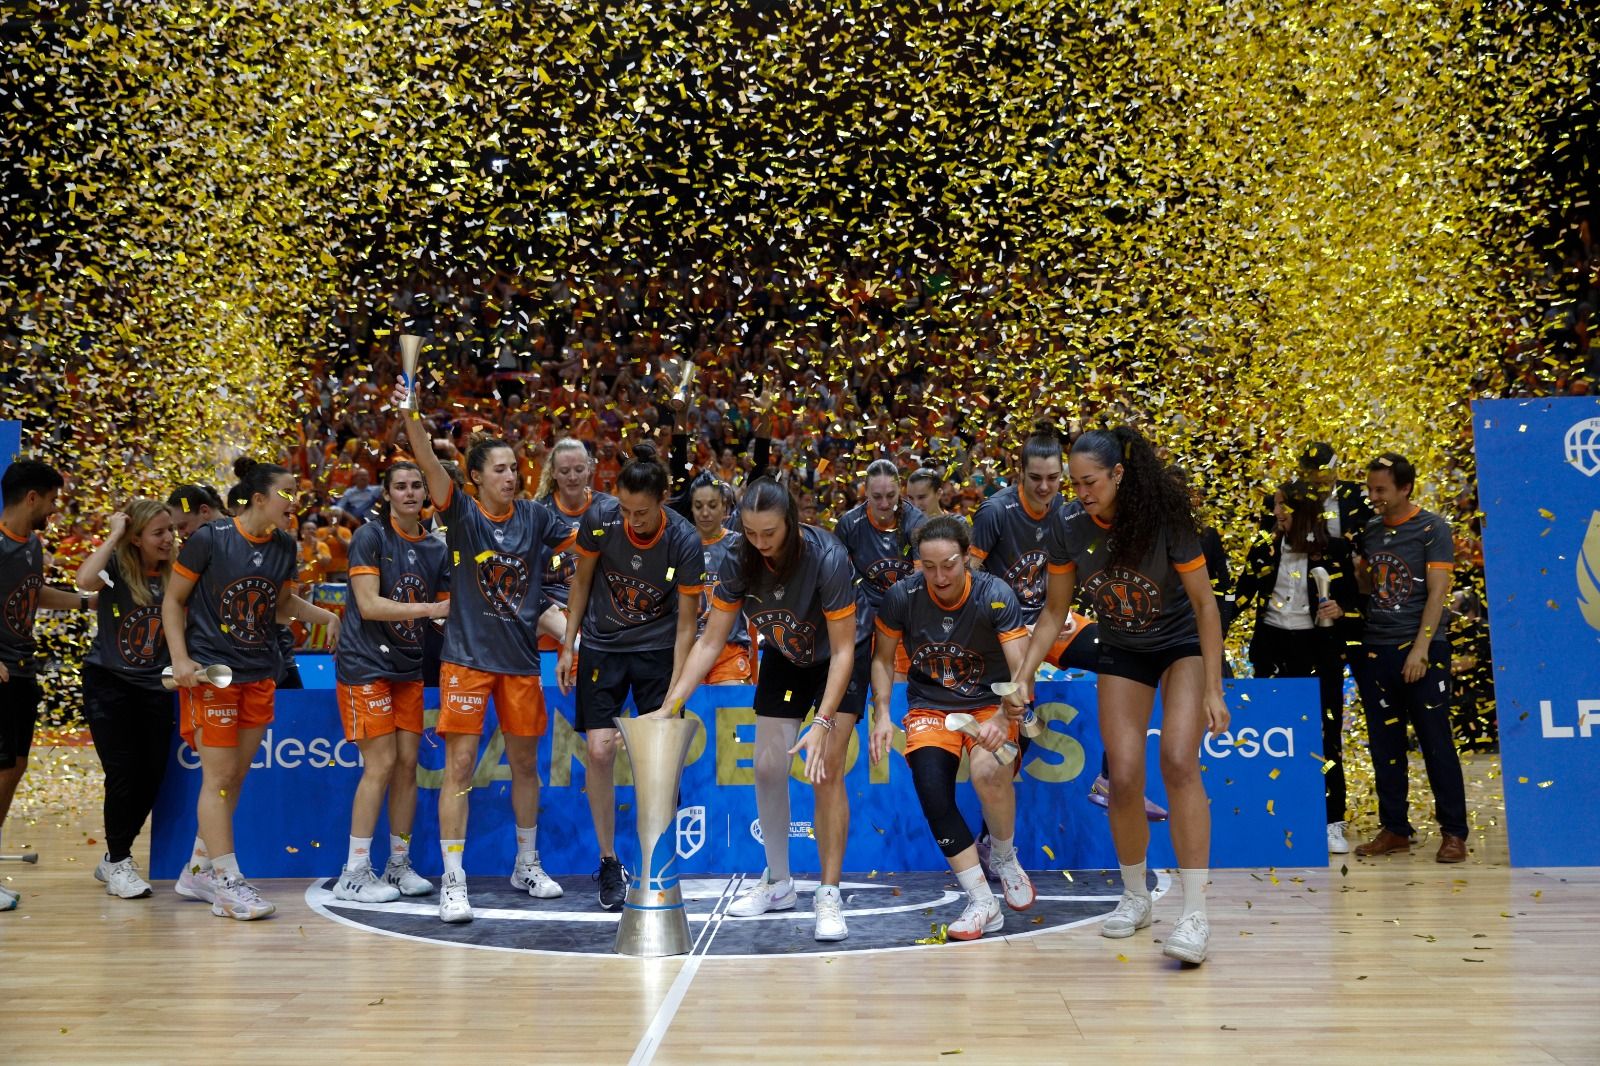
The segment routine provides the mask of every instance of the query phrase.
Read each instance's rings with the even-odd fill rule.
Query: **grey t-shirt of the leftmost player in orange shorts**
[[[294,565],[294,538],[283,530],[254,539],[237,519],[195,530],[173,565],[195,583],[184,627],[189,658],[230,666],[235,685],[277,680],[278,600],[290,592]]]

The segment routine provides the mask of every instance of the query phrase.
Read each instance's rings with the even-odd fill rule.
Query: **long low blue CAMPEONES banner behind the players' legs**
[[[1323,832],[1323,778],[1318,747],[1317,685],[1312,680],[1227,682],[1234,730],[1208,738],[1200,762],[1211,797],[1211,866],[1322,866],[1328,860]],[[688,712],[704,728],[683,771],[677,824],[680,874],[758,871],[765,866],[755,816],[754,688],[702,687]],[[1093,675],[1040,682],[1038,712],[1050,730],[1022,757],[1018,784],[1018,847],[1029,869],[1106,869],[1115,866],[1106,812],[1088,802],[1099,773]],[[571,727],[573,698],[546,688],[550,731],[541,744],[544,781],[539,852],[546,869],[566,877],[597,866],[594,828],[582,794],[586,749]],[[422,736],[413,856],[424,874],[440,871],[438,786],[443,744],[432,730],[438,691],[427,691],[429,728]],[[893,719],[906,712],[896,687]],[[1160,712],[1149,744],[1149,795],[1166,802],[1158,760]],[[510,815],[510,768],[490,714],[480,747],[467,828],[467,869],[510,871],[515,840]],[[845,856],[851,871],[944,869],[944,858],[917,805],[910,770],[901,754],[906,736],[896,728],[896,751],[869,767],[866,727],[858,727],[850,760],[851,826]],[[978,757],[987,757],[979,754]],[[328,690],[280,691],[277,719],[245,779],[235,820],[237,850],[253,877],[328,877],[344,863],[350,797],[360,776],[360,752],[344,741]],[[962,770],[965,781],[966,771]],[[818,869],[811,839],[813,794],[802,783],[800,762],[790,786],[790,844],[797,871]],[[626,757],[618,763],[618,845],[634,844],[632,787]],[[194,842],[198,759],[176,744],[155,808],[150,868],[176,877]],[[979,808],[970,784],[960,786],[962,808],[978,826]],[[386,853],[381,821],[374,853]],[[1173,866],[1165,823],[1150,826],[1150,863]]]

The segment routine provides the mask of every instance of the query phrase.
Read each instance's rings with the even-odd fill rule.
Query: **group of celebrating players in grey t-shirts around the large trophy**
[[[558,442],[536,498],[518,499],[518,466],[504,442],[478,440],[454,472],[435,458],[421,421],[406,426],[414,461],[389,467],[378,515],[350,541],[342,621],[291,594],[296,549],[285,530],[294,519],[294,479],[269,464],[245,472],[232,517],[210,514],[208,501],[184,493],[173,507],[134,501],[85,562],[78,587],[98,592],[99,611],[86,707],[98,746],[104,733],[107,767],[109,852],[96,872],[109,892],[150,892],[130,847],[165,763],[152,738],[160,735],[162,701],[171,706],[162,687],[166,669],[179,693],[179,731],[202,767],[198,834],[176,890],[211,903],[219,916],[274,912],[238,869],[232,813],[272,720],[282,663],[275,624],[298,618],[330,629],[341,722],[365,763],[334,895],[362,903],[432,895],[434,885],[411,868],[410,831],[424,647],[438,623],[445,922],[472,920],[462,868],[467,795],[491,701],[512,778],[510,882],[541,900],[563,895],[538,850],[536,759],[547,727],[539,653],[558,648],[557,683],[576,688],[574,727],[587,743],[602,908],[619,909],[627,890],[614,847],[613,719],[629,696],[640,711],[675,714],[702,683],[754,682],[766,871],[730,914],[798,903],[787,828],[789,768],[800,755],[816,791],[814,936],[843,940],[848,744],[866,719],[872,760],[888,757],[890,690],[904,680],[906,760],[934,840],[966,893],[949,936],[998,932],[1005,911],[990,877],[1006,908],[1026,911],[1035,900],[1014,847],[1014,767],[1032,679],[1051,663],[1099,674],[1107,807],[1123,877],[1123,896],[1102,925],[1107,936],[1131,936],[1150,924],[1146,730],[1162,687],[1162,768],[1184,901],[1163,951],[1192,964],[1205,959],[1210,815],[1198,749],[1206,730],[1222,731],[1229,722],[1222,629],[1187,491],[1138,432],[1091,431],[1066,455],[1056,432],[1037,427],[1016,483],[989,498],[971,525],[939,514],[933,491],[922,493],[926,511],[904,499],[899,471],[877,461],[866,472],[864,501],[826,531],[802,523],[795,496],[768,477],[734,496],[726,483],[701,475],[674,495],[648,447],[635,450],[616,493],[605,495],[589,488],[584,447]],[[90,600],[43,589],[37,576],[24,579],[38,573],[35,531],[54,511],[61,483],[34,467],[40,464],[16,479],[19,466],[6,474],[0,592],[22,587],[32,600],[21,611],[6,602],[0,658],[11,674],[0,680],[10,682],[8,696],[29,680],[37,707],[37,682],[18,666],[32,648],[19,634],[30,639],[40,605]],[[1078,591],[1093,618],[1072,610]],[[216,675],[219,666],[230,679]],[[128,728],[130,715],[150,725]],[[21,775],[27,741],[10,717],[3,739],[0,783],[14,789],[14,776],[5,775]],[[982,802],[984,861],[955,805],[963,759]],[[10,802],[10,791],[3,799]],[[379,871],[371,847],[386,804],[390,839]]]

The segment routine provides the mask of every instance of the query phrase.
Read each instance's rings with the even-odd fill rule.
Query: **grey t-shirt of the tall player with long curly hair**
[[[1198,536],[1173,541],[1165,527],[1138,567],[1109,567],[1106,528],[1086,511],[1064,514],[1051,530],[1050,570],[1075,570],[1080,595],[1099,621],[1101,643],[1163,651],[1198,640],[1195,608],[1182,575],[1205,567]]]

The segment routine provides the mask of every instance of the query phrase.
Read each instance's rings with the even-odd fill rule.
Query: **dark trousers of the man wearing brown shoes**
[[[1450,731],[1450,642],[1435,640],[1427,648],[1427,674],[1406,683],[1410,645],[1363,643],[1355,653],[1355,683],[1366,711],[1366,738],[1373,752],[1378,783],[1378,821],[1389,832],[1410,837],[1416,831],[1406,802],[1406,722],[1416,730],[1427,784],[1434,789],[1438,828],[1467,837],[1467,786],[1461,778],[1461,757]]]

